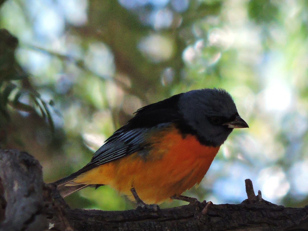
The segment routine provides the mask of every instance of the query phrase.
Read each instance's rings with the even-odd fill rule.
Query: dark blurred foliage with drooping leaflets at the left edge
[[[52,101],[48,105],[41,99],[40,94],[31,88],[28,74],[15,60],[17,46],[17,38],[6,29],[0,29],[0,132],[2,142],[6,142],[6,127],[10,122],[8,105],[18,111],[36,112],[49,122],[51,132],[54,132],[50,112]],[[15,81],[15,84],[13,80],[19,81]],[[22,101],[27,101],[27,103]]]

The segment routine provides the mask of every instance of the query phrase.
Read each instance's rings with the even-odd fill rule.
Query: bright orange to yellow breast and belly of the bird
[[[150,138],[151,151],[138,153],[100,165],[74,181],[83,184],[108,184],[133,199],[134,187],[141,200],[159,204],[199,184],[219,147],[201,145],[195,136],[183,136],[176,128],[156,132]]]

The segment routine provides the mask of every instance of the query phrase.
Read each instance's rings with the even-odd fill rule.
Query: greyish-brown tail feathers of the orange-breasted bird
[[[98,188],[99,186],[102,186],[103,184],[83,184],[83,183],[77,183],[74,180],[77,176],[79,176],[80,173],[75,172],[71,174],[70,176],[66,176],[60,180],[57,180],[54,182],[54,184],[57,184],[57,189],[60,192],[60,195],[64,198],[68,195],[79,191],[80,189],[87,188],[87,187],[95,187]]]

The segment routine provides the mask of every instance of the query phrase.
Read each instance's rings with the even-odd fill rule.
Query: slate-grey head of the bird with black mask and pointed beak
[[[205,144],[220,146],[233,128],[248,128],[223,89],[188,91],[180,96],[178,106],[184,121]]]

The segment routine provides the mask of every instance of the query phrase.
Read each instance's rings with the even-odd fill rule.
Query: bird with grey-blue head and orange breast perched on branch
[[[178,199],[199,184],[234,128],[248,128],[221,88],[192,90],[138,109],[71,175],[55,181],[62,197],[109,185],[137,206]]]

